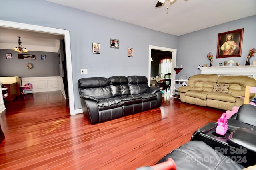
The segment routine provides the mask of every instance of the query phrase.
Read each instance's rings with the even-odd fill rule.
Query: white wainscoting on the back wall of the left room
[[[31,83],[33,85],[34,93],[58,90],[61,90],[62,93],[64,92],[62,77],[22,77],[21,80],[22,86],[24,86],[26,83]]]

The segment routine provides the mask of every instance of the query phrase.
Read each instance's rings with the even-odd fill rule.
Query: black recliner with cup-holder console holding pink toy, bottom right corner
[[[216,122],[196,130],[191,141],[204,141],[215,150],[247,167],[256,164],[256,106],[244,104],[228,119],[225,135],[216,133]]]

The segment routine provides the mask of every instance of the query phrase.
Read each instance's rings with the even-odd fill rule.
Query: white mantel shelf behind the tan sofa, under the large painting
[[[216,67],[198,67],[201,74],[218,75],[243,75],[256,79],[256,66],[216,66]]]

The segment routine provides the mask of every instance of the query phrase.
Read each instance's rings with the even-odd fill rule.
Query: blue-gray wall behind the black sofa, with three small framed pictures
[[[0,3],[1,20],[70,31],[75,109],[81,108],[78,79],[148,76],[149,45],[172,49],[178,46],[177,36],[47,1],[1,0]],[[119,49],[110,48],[110,38],[120,41]],[[92,53],[92,43],[100,43],[100,54]],[[134,49],[134,57],[127,57],[127,48]],[[80,74],[81,68],[88,69],[88,74]]]

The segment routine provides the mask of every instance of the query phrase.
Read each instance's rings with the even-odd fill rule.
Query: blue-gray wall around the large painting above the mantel
[[[242,28],[244,28],[242,56],[217,59],[218,33]],[[201,64],[201,66],[204,64],[208,64],[208,66],[210,65],[210,61],[206,58],[208,52],[212,52],[213,66],[218,66],[218,63],[224,64],[225,60],[233,60],[233,66],[236,62],[240,62],[240,65],[244,65],[249,50],[255,47],[256,15],[179,36],[176,65],[179,66],[182,64],[183,70],[181,70],[177,76],[180,74],[194,75],[196,74],[196,71],[197,74],[200,74],[200,70],[196,69],[198,64]],[[251,65],[253,61],[256,61],[256,57],[250,58]]]

